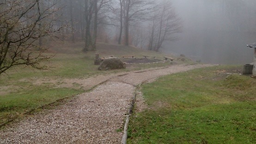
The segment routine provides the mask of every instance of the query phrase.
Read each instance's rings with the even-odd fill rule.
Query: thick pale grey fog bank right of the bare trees
[[[215,64],[246,64],[256,42],[256,0],[172,0],[183,22],[179,40],[163,51]]]

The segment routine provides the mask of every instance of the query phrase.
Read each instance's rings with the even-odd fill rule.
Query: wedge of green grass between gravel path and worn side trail
[[[41,108],[57,100],[77,95],[84,90],[34,86],[30,90],[0,96],[0,122],[22,117],[25,112]]]

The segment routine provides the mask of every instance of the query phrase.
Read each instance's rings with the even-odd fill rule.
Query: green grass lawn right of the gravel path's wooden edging
[[[196,69],[144,84],[148,109],[132,116],[128,144],[253,144],[256,79],[226,74],[241,67]]]

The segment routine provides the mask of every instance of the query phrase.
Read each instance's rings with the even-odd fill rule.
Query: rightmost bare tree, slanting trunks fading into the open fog
[[[172,8],[170,0],[163,0],[152,21],[149,50],[158,52],[164,41],[174,41],[175,33],[181,32],[181,21]]]

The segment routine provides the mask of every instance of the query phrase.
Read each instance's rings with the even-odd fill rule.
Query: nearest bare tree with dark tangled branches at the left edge
[[[61,27],[54,27],[56,2],[40,7],[43,0],[0,1],[0,74],[12,66],[28,65],[45,69],[40,62],[51,56],[38,51],[41,37],[54,36]]]

